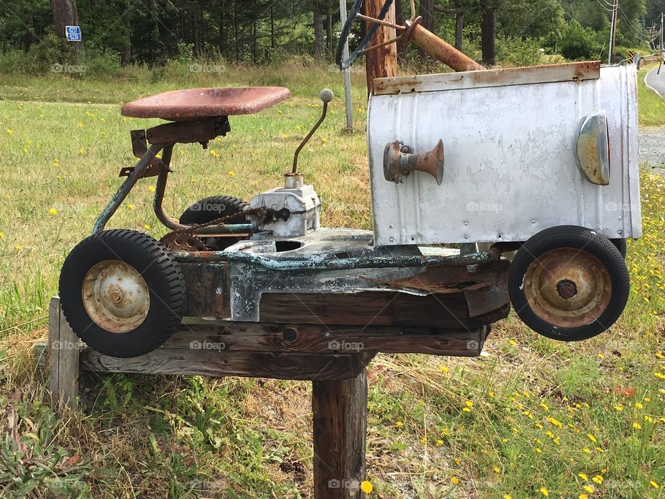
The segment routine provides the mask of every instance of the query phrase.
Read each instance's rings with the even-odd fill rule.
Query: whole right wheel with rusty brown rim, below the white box
[[[511,302],[536,333],[585,340],[617,321],[628,300],[626,262],[610,240],[565,225],[535,234],[520,247],[508,276]]]

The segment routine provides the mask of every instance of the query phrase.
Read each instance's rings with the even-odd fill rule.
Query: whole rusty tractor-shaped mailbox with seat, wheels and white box
[[[359,9],[360,0],[342,31],[340,65],[371,50],[375,28],[387,24],[462,71],[374,81],[373,231],[319,227],[321,200],[297,168],[331,91],[321,92],[323,115],[283,187],[249,204],[200,200],[178,220],[162,207],[173,146],[205,146],[230,132],[231,116],[260,112],[290,91],[188,89],[125,104],[125,116],[170,123],[132,132],[140,161],[121,171],[127,179],[94,233],[62,267],[62,310],[90,347],[139,356],[166,342],[184,317],[287,323],[301,308],[321,324],[337,314],[348,326],[486,333],[512,303],[531,329],[558,340],[597,335],[621,315],[630,286],[625,240],[641,235],[635,67],[478,71],[418,19],[394,26],[382,20],[387,8],[379,19]],[[357,17],[374,26],[342,61]],[[105,230],[150,176],[154,211],[170,234],[157,241]],[[502,257],[515,250],[512,261]],[[355,301],[339,310],[349,295]]]

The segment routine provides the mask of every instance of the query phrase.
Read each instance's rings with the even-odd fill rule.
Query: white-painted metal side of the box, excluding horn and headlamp
[[[608,186],[585,180],[575,158],[581,122],[596,112],[608,117]],[[439,139],[441,186],[422,172],[385,180],[387,143],[420,153]],[[526,240],[556,225],[641,235],[632,65],[598,80],[372,96],[368,141],[378,245]]]

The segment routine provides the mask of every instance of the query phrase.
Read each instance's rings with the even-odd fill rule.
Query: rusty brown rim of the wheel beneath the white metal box
[[[544,322],[574,328],[594,322],[612,297],[610,274],[596,256],[583,249],[551,249],[524,274],[524,295]]]

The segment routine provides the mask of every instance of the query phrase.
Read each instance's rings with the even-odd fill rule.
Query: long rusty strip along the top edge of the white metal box
[[[529,85],[567,81],[577,82],[582,80],[598,80],[600,77],[600,61],[568,62],[566,64],[551,64],[547,66],[376,78],[373,89],[375,95],[409,94],[420,91],[504,87],[506,85]]]

